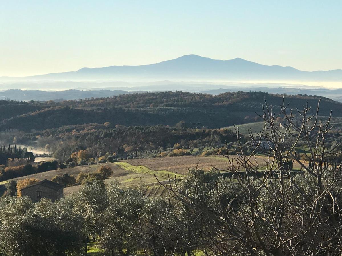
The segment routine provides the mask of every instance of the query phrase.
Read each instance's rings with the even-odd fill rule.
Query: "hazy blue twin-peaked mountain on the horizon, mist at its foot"
[[[2,77],[1,80],[15,78]],[[18,78],[16,78],[18,79]],[[22,77],[23,80],[52,81],[143,81],[143,80],[225,80],[225,81],[342,81],[342,70],[301,71],[292,67],[267,66],[240,58],[215,60],[198,55],[141,66],[81,68],[77,71]]]

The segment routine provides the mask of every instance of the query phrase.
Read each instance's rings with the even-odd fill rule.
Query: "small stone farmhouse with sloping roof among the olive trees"
[[[22,188],[22,196],[29,196],[32,202],[38,202],[41,198],[56,201],[63,198],[63,187],[55,182],[43,180],[33,185]]]

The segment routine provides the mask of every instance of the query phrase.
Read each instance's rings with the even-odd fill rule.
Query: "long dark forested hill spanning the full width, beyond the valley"
[[[0,130],[45,130],[66,125],[109,122],[111,125],[170,125],[184,120],[209,128],[225,127],[258,121],[255,112],[272,104],[279,110],[282,95],[263,92],[236,92],[220,95],[188,92],[126,94],[105,98],[69,100],[62,102],[0,101]],[[319,97],[286,96],[292,108],[308,102],[313,112],[321,99],[320,115],[342,116],[342,103]]]

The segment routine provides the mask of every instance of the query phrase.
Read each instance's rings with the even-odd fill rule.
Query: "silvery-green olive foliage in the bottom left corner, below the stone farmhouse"
[[[8,256],[71,255],[81,251],[79,216],[61,200],[8,197],[0,201],[0,250]]]

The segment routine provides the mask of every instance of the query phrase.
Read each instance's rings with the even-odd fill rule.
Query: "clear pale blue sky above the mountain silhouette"
[[[342,1],[0,0],[0,76],[197,54],[342,69]]]

